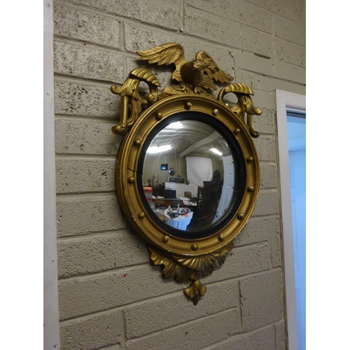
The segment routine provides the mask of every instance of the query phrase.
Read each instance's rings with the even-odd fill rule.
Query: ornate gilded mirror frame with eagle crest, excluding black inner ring
[[[252,137],[259,133],[253,127],[253,115],[260,115],[261,109],[253,106],[253,90],[243,83],[232,83],[223,87],[218,99],[209,92],[216,90],[215,83],[229,83],[233,78],[218,68],[206,52],[197,52],[195,60],[186,62],[183,47],[167,43],[150,50],[138,52],[140,59],[149,63],[174,64],[172,77],[179,85],[165,87],[159,94],[160,83],[148,69],[134,69],[122,87],[113,85],[111,91],[122,98],[119,125],[113,133],[127,131],[120,145],[116,167],[116,188],[121,207],[128,221],[139,235],[148,241],[151,260],[162,265],[165,278],[174,278],[192,284],[184,293],[194,304],[207,290],[200,278],[208,276],[223,264],[226,254],[233,247],[233,239],[244,228],[251,216],[260,186],[258,154]],[[142,94],[139,84],[144,81],[150,92]],[[234,93],[237,104],[230,106],[223,102],[225,94]],[[144,198],[137,187],[137,167],[141,148],[148,135],[158,123],[175,113],[195,111],[215,118],[232,131],[246,160],[246,184],[244,196],[237,213],[232,215],[225,227],[209,237],[184,239],[169,234],[148,215]]]

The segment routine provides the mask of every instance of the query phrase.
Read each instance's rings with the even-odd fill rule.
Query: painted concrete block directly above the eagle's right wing
[[[241,25],[239,25],[239,22],[214,15],[209,16],[208,13],[195,8],[186,7],[184,32],[217,43],[225,43],[225,45],[232,46],[232,48],[241,48],[241,36],[239,35]],[[228,35],[223,36],[223,33]]]

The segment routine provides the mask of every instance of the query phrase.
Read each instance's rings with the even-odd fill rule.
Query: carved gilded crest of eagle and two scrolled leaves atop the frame
[[[152,104],[155,104],[158,99],[177,94],[202,94],[211,97],[208,92],[217,89],[215,83],[223,84],[233,80],[232,76],[218,67],[207,52],[197,52],[193,61],[186,62],[183,47],[178,43],[165,43],[149,50],[138,51],[137,53],[140,55],[140,59],[144,59],[149,63],[157,63],[158,65],[174,64],[176,69],[172,73],[172,78],[177,80],[179,85],[165,87],[158,94],[160,82],[146,68],[137,68],[131,71],[122,87],[118,88],[116,85],[112,85],[111,92],[122,97],[120,124],[112,128],[115,134],[121,134],[127,127],[132,127],[137,118],[139,118],[140,113]],[[141,96],[137,90],[141,81],[147,83],[150,89],[150,92],[144,94],[144,96]],[[229,104],[223,102],[223,97],[228,93],[233,93],[237,96],[238,101],[235,106],[230,107]],[[232,83],[221,89],[218,93],[218,101],[228,106],[243,123],[246,123],[251,137],[256,138],[260,134],[255,131],[253,116],[259,116],[262,113],[262,109],[255,108],[253,105],[251,99],[253,94],[251,87],[244,83]],[[191,102],[187,102],[186,109],[191,109],[191,107]],[[216,115],[217,113],[218,109],[214,109],[213,114]],[[245,116],[246,122],[244,120]],[[162,115],[158,113],[157,118],[162,118]],[[240,130],[238,129],[236,132],[240,132]]]

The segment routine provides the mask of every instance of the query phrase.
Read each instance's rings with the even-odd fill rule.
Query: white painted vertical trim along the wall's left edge
[[[59,349],[52,0],[43,1],[43,349]]]

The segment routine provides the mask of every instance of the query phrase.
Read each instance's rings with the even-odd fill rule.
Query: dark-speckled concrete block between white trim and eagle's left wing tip
[[[54,42],[55,73],[116,82],[124,80],[123,56],[88,43]]]

